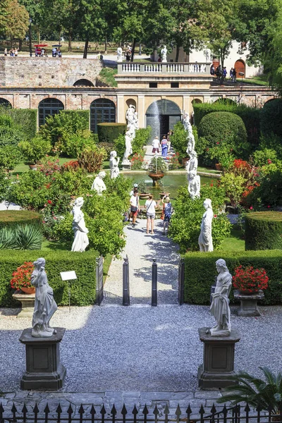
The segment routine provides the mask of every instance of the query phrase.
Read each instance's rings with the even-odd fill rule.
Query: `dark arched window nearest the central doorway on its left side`
[[[97,133],[97,123],[116,122],[116,106],[109,99],[97,99],[90,106],[90,129]]]

